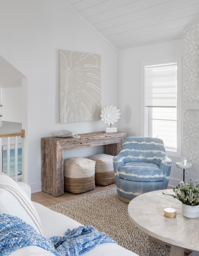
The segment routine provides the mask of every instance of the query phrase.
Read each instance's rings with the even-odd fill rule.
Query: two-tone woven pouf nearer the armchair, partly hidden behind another
[[[97,154],[87,157],[96,161],[95,164],[95,184],[108,185],[115,182],[113,169],[113,155]]]

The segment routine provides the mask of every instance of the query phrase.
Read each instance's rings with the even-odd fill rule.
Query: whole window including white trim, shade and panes
[[[181,76],[181,57],[141,62],[141,136],[162,139],[175,157],[182,147]]]

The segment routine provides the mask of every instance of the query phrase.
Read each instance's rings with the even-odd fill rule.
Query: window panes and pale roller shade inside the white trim
[[[177,63],[145,67],[148,136],[177,150]]]

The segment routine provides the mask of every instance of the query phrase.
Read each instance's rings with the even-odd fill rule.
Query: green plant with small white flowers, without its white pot
[[[199,205],[199,184],[196,183],[196,187],[194,188],[191,180],[188,185],[186,185],[186,182],[184,181],[184,184],[181,184],[181,187],[178,185],[173,191],[175,195],[163,194],[176,198],[186,205]]]

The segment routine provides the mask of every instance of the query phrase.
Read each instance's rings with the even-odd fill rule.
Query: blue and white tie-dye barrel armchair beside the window
[[[130,202],[141,194],[166,189],[171,164],[162,139],[127,137],[119,155],[113,158],[119,198]]]

